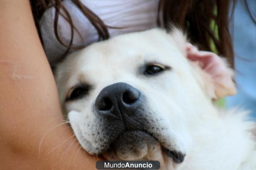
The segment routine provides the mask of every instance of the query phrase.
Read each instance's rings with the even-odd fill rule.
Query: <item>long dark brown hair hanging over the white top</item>
[[[55,8],[55,36],[62,45],[67,47],[67,51],[63,54],[65,55],[71,48],[82,47],[72,46],[73,34],[74,31],[77,30],[73,25],[68,10],[61,4],[61,1],[62,0],[31,0],[30,2],[40,38],[41,31],[39,22],[41,17],[49,7],[53,6]],[[90,9],[84,6],[79,0],[71,1],[96,28],[99,40],[108,39],[108,28],[114,27],[107,26],[93,11],[90,11]],[[246,1],[244,2],[247,5]],[[231,14],[233,14],[235,3],[235,0],[160,0],[158,4],[157,25],[169,29],[168,27],[170,23],[172,23],[182,28],[186,31],[188,38],[198,45],[199,49],[214,51],[218,55],[226,57],[233,67],[234,52],[229,31],[229,10],[231,9]],[[64,44],[58,35],[57,26],[59,15],[64,17],[72,28],[71,38],[68,44]]]

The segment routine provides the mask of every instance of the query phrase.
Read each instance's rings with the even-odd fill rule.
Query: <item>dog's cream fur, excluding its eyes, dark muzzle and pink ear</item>
[[[177,29],[171,33],[152,29],[97,42],[70,54],[58,65],[55,79],[60,102],[87,152],[93,154],[100,144],[90,135],[94,128],[101,128],[92,111],[97,95],[108,85],[125,82],[145,94],[153,113],[150,119],[162,119],[159,126],[165,128],[162,135],[168,140],[160,143],[186,153],[185,160],[176,164],[157,143],[155,150],[148,148],[139,156],[131,153],[127,160],[159,160],[162,170],[256,170],[256,140],[251,132],[255,122],[249,121],[244,111],[220,110],[212,103],[213,96],[233,94],[233,85],[216,85],[198,64],[189,61],[186,43]],[[172,69],[145,77],[138,71],[145,62]],[[79,83],[90,84],[89,93],[65,102],[70,89]],[[114,158],[125,159],[118,152]]]

